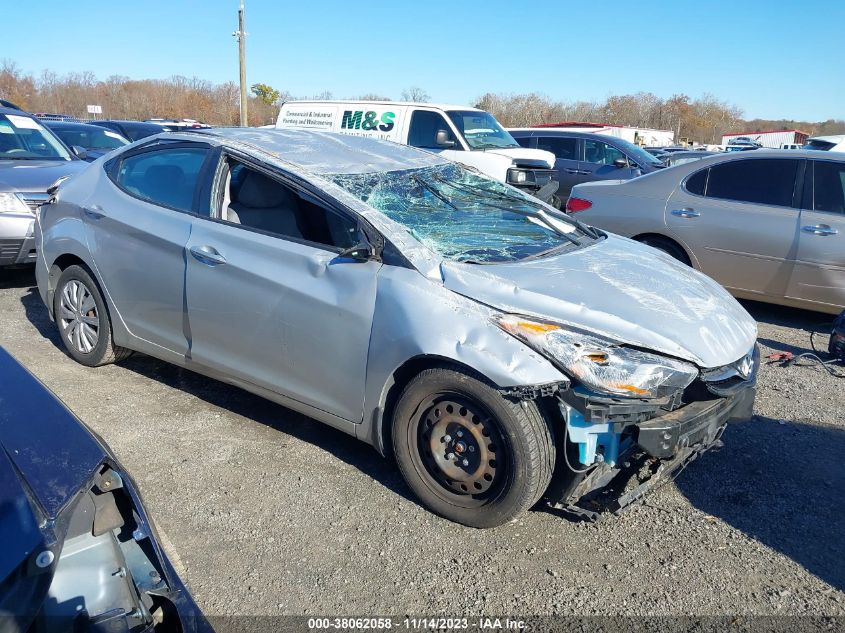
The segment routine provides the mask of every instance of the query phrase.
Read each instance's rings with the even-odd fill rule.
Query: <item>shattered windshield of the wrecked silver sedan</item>
[[[596,237],[526,194],[456,164],[329,178],[455,261],[519,261]]]

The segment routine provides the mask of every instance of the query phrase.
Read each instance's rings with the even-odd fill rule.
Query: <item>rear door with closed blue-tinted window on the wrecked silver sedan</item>
[[[185,244],[199,207],[204,143],[154,142],[105,165],[83,209],[104,290],[130,334],[181,358]]]

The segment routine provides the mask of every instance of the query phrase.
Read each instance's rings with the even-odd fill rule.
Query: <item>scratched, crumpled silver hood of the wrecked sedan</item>
[[[615,235],[526,262],[445,261],[441,272],[450,290],[499,310],[603,334],[702,368],[736,361],[757,338],[754,319],[718,283]]]

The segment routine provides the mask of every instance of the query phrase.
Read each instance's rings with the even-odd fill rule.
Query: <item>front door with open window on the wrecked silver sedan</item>
[[[219,169],[187,245],[191,362],[360,422],[381,264],[339,256],[359,220],[242,156]]]

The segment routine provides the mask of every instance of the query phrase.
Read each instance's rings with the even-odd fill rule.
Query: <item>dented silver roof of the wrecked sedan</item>
[[[211,128],[165,132],[157,138],[217,138],[273,155],[315,174],[367,174],[445,164],[445,159],[408,145],[363,136],[276,128]]]

